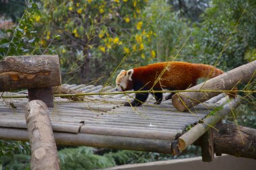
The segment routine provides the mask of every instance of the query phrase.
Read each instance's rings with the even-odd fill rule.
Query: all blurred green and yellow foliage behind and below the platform
[[[255,0],[3,0],[0,58],[59,54],[63,83],[102,84],[116,69],[173,59],[228,71],[256,59],[255,9]],[[15,27],[6,29],[6,21]],[[255,87],[255,81],[248,86]],[[255,95],[248,97],[236,119],[255,128]],[[1,140],[0,149],[3,169],[28,169],[28,142]],[[93,148],[70,149],[59,152],[61,164],[70,169],[84,165],[77,155],[94,163],[86,169],[177,158],[113,150],[95,156]],[[191,147],[181,157],[199,153]]]

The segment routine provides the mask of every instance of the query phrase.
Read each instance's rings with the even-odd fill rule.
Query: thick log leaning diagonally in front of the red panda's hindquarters
[[[189,90],[230,90],[234,88],[237,83],[247,83],[254,77],[256,71],[256,60],[253,62],[249,62],[247,65],[242,65],[241,67],[237,67],[236,69],[232,69],[218,77],[214,77],[206,81],[205,83],[201,83],[199,85],[195,85],[188,90],[188,92],[177,93],[172,96],[172,104],[177,110],[184,112],[185,110],[192,108],[193,106],[206,101],[214,97],[215,95],[220,94],[221,92],[199,92],[199,91],[189,91]]]

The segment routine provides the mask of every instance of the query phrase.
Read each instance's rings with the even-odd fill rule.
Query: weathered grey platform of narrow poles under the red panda
[[[98,93],[102,90],[102,85],[63,86],[82,93]],[[104,91],[112,92],[115,88],[108,86]],[[26,94],[27,91],[3,95],[22,93]],[[164,93],[164,97],[166,95]],[[172,141],[227,102],[222,93],[195,106],[191,112],[178,112],[170,100],[154,105],[153,98],[150,95],[145,104],[129,108],[122,103],[131,98],[123,94],[89,95],[84,101],[55,97],[55,108],[49,108],[55,140],[57,144],[171,153]],[[26,98],[2,99],[0,139],[28,140],[24,116],[27,102]]]

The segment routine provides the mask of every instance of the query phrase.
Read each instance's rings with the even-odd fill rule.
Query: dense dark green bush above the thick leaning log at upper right
[[[221,63],[218,67],[224,70],[245,64],[245,52],[256,46],[256,2],[214,0],[212,4],[203,22],[195,26],[195,40],[185,54],[197,56],[197,62]]]

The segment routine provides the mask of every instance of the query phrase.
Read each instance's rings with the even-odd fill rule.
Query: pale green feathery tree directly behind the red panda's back
[[[191,33],[185,19],[179,17],[179,12],[172,11],[171,5],[164,0],[152,1],[146,7],[143,22],[154,32],[154,36],[146,44],[146,56],[156,51],[154,62],[173,60]],[[182,57],[179,56],[178,60],[182,60]]]

